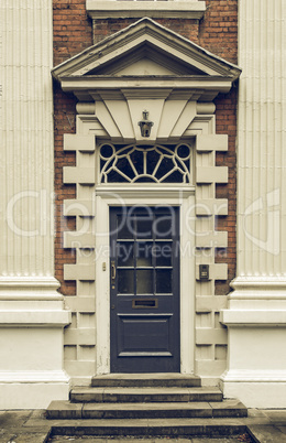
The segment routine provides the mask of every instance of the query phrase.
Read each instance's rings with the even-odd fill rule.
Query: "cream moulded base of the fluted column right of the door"
[[[234,291],[230,309],[221,312],[229,344],[221,387],[224,398],[238,398],[248,408],[286,408],[285,292],[278,284],[272,291],[261,287]]]

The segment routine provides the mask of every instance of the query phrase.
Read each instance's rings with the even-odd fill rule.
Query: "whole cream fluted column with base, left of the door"
[[[66,398],[54,278],[52,0],[2,0],[0,409]]]

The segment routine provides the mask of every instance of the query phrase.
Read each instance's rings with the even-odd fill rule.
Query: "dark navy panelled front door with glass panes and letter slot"
[[[179,372],[179,209],[110,208],[110,250],[111,372]]]

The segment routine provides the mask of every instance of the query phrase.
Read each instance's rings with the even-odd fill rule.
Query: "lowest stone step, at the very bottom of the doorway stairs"
[[[51,435],[111,437],[206,436],[221,439],[248,431],[248,426],[241,419],[62,420],[51,424]]]

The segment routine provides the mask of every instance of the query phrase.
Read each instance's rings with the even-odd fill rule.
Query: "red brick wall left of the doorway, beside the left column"
[[[92,44],[92,21],[86,13],[85,0],[54,0],[54,66],[78,54]],[[64,152],[64,133],[76,130],[76,99],[64,94],[54,83],[54,134],[55,134],[55,195],[56,195],[56,238],[55,238],[55,277],[61,282],[64,295],[75,295],[74,281],[64,281],[64,263],[75,263],[75,251],[63,248],[65,230],[74,230],[75,218],[63,216],[63,201],[76,197],[75,185],[63,184],[63,168],[75,166],[74,152]]]

